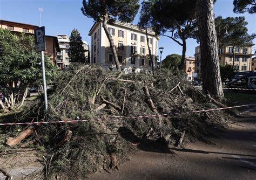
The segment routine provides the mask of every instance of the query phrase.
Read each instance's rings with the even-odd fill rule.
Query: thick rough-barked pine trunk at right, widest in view
[[[214,25],[213,0],[198,0],[197,20],[201,49],[203,91],[223,99],[220,66],[218,59],[217,34]]]

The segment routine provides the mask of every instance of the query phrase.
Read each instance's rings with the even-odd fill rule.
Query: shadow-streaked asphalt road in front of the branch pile
[[[173,153],[139,151],[119,171],[90,179],[256,179],[256,112],[240,114],[231,127],[209,140],[171,148]]]

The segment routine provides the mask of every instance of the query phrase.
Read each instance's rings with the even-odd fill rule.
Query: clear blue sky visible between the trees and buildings
[[[41,25],[45,26],[47,35],[68,34],[76,28],[83,40],[90,44],[89,30],[93,25],[93,19],[83,15],[82,0],[0,0],[0,19],[14,22],[40,25],[39,8],[43,8]],[[248,33],[256,33],[256,15],[249,13],[233,13],[233,0],[217,0],[214,4],[215,16],[238,17],[245,16],[248,22]],[[138,22],[139,13],[134,19]],[[253,41],[256,44],[256,39]],[[186,56],[194,56],[197,42],[194,39],[187,39]],[[168,54],[181,54],[182,48],[168,37],[160,36],[158,47],[164,47],[162,59]],[[158,53],[160,54],[160,53]]]

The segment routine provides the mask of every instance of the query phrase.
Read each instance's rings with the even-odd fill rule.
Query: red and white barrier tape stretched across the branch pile
[[[232,106],[232,107],[223,107],[223,108],[215,108],[215,109],[204,109],[204,110],[194,110],[188,113],[169,113],[169,114],[157,114],[157,115],[143,115],[143,116],[111,116],[109,120],[120,120],[120,119],[139,119],[139,118],[147,118],[147,117],[159,117],[159,116],[168,116],[168,115],[178,115],[178,114],[191,114],[191,113],[200,113],[200,112],[208,112],[213,110],[223,110],[223,109],[232,109],[238,107],[246,107],[246,106],[256,106],[256,104],[252,105],[241,105],[241,106]],[[32,124],[49,124],[49,123],[76,123],[76,122],[85,122],[85,121],[104,121],[104,119],[86,119],[86,120],[68,120],[68,121],[41,121],[41,122],[14,122],[14,123],[0,123],[0,126],[8,126],[8,125],[32,125]]]

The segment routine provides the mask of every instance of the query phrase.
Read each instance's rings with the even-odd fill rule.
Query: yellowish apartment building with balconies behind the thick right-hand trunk
[[[252,65],[252,46],[253,44],[245,44],[242,47],[235,47],[235,59],[234,59],[234,70],[237,72],[250,71]],[[233,47],[229,45],[223,45],[219,48],[219,62],[221,65],[233,65]],[[201,54],[200,46],[196,47],[195,56],[195,68],[198,73],[198,80],[201,80]]]

